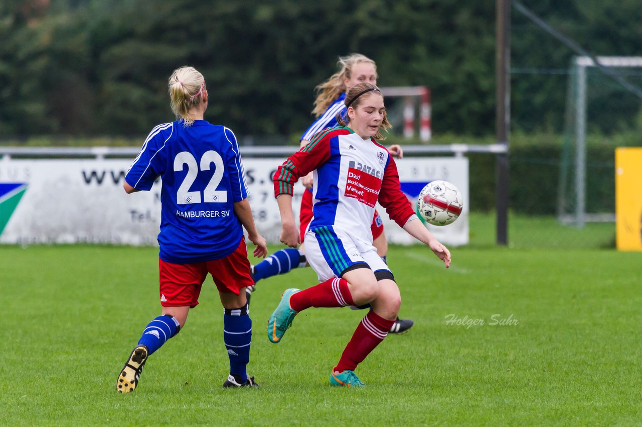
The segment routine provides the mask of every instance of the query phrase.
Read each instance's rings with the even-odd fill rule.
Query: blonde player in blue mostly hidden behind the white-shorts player
[[[373,85],[377,84],[377,65],[373,60],[363,54],[352,53],[347,56],[340,56],[337,65],[339,70],[316,88],[317,99],[315,99],[315,108],[312,113],[317,119],[309,126],[308,130],[301,135],[301,147],[306,146],[318,131],[337,126],[337,117],[345,115],[347,111],[343,101],[350,88],[364,82],[372,83]],[[388,147],[388,151],[390,151],[390,154],[395,158],[403,157],[401,146],[390,146]],[[300,181],[304,187],[306,187],[301,199],[299,213],[301,246],[299,249],[281,249],[270,255],[266,260],[254,265],[252,267],[252,278],[254,278],[256,282],[308,265],[304,252],[304,239],[306,230],[313,216],[312,173],[302,177]],[[383,230],[383,221],[376,210],[372,224],[370,224],[370,230],[372,231],[372,244],[376,247],[377,254],[386,262],[388,242],[385,231]],[[254,292],[254,287],[248,287],[246,292],[249,299],[252,292]],[[410,319],[397,318],[390,327],[390,333],[404,333],[412,328],[413,324],[414,322]]]

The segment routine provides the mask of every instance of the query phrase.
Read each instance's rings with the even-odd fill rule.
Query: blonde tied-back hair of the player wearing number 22
[[[184,126],[191,126],[194,119],[189,110],[203,99],[205,78],[194,67],[180,67],[169,77],[169,99],[171,111],[183,119]]]

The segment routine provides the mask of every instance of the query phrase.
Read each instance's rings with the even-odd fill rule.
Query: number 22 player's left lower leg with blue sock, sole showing
[[[168,339],[175,336],[178,331],[180,331],[180,326],[177,319],[169,314],[160,315],[149,322],[143,330],[141,339],[138,340],[138,345],[129,355],[121,373],[118,374],[117,392],[133,392],[138,386],[147,358]]]

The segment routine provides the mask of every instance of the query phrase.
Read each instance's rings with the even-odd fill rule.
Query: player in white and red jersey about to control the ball
[[[390,127],[381,90],[372,83],[352,87],[345,97],[347,122],[317,133],[274,174],[281,213],[281,242],[300,242],[292,212],[292,186],[314,171],[313,220],[306,233],[306,258],[318,285],[287,289],[268,321],[268,339],[281,342],[294,317],[310,307],[371,306],[331,370],[330,383],[362,386],[354,373],[388,335],[401,294],[388,265],[372,246],[370,221],[379,202],[390,218],[426,244],[449,267],[451,256],[415,215],[401,192],[399,174],[388,150],[377,140]]]

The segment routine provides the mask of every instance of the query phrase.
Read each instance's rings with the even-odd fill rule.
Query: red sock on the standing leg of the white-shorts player
[[[388,335],[394,322],[384,319],[370,310],[357,326],[334,370],[338,372],[354,371],[357,365],[363,362],[363,359]]]

